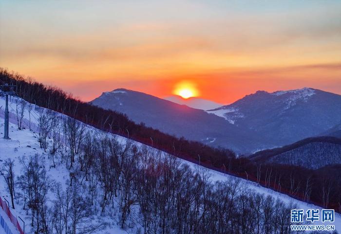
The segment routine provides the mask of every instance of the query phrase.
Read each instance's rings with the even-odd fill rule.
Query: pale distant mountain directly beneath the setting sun
[[[212,101],[202,99],[202,98],[197,98],[197,97],[190,97],[188,99],[184,99],[181,96],[173,95],[173,96],[166,97],[164,99],[180,104],[180,105],[186,105],[191,108],[203,109],[203,110],[215,109],[215,108],[219,108],[222,106],[220,103],[212,102]]]

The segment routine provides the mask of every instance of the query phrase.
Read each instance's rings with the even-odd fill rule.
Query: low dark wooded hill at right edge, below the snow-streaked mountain
[[[327,165],[341,164],[341,139],[307,138],[280,148],[259,151],[250,155],[249,159],[260,163],[273,162],[319,169]]]

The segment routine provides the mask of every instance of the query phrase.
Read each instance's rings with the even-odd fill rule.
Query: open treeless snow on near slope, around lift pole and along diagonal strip
[[[16,104],[12,100],[10,102],[10,112],[11,112],[11,118],[10,118],[10,127],[9,127],[9,135],[11,137],[11,140],[4,140],[2,139],[3,137],[3,112],[4,112],[4,98],[0,98],[0,164],[3,163],[4,160],[7,158],[11,158],[12,160],[15,160],[15,176],[19,176],[21,173],[21,164],[19,163],[19,159],[22,156],[30,156],[30,155],[35,155],[38,153],[39,155],[43,155],[43,159],[45,161],[45,168],[47,170],[47,175],[56,180],[57,182],[60,182],[62,185],[66,184],[66,180],[69,179],[70,172],[69,170],[64,166],[64,165],[58,165],[56,168],[50,167],[50,160],[47,159],[48,155],[47,153],[44,152],[43,149],[40,149],[39,143],[38,143],[38,138],[37,134],[34,131],[30,131],[27,129],[27,123],[28,123],[28,113],[25,112],[25,120],[24,120],[24,125],[26,129],[18,130],[18,126],[16,125],[17,119],[14,118],[15,115],[15,109],[16,109]],[[34,123],[33,129],[37,129],[37,118],[38,118],[38,113],[34,111],[35,108],[33,108],[33,113],[32,114],[32,119],[31,121]],[[90,127],[90,126],[89,126]],[[90,127],[92,128],[92,127]],[[125,141],[126,139],[117,136],[117,139],[119,141]],[[135,143],[137,145],[141,145],[140,143]],[[187,162],[184,160],[181,160],[182,163],[187,163],[190,165],[192,168],[198,168],[199,166],[197,164]],[[209,171],[211,174],[211,180],[212,181],[217,181],[217,180],[232,180],[236,179],[235,177],[225,175],[223,173],[210,170]],[[299,209],[319,209],[322,210],[321,207],[312,205],[312,204],[307,204],[305,202],[296,200],[294,198],[290,198],[287,195],[275,192],[271,189],[267,189],[261,186],[258,186],[256,183],[243,180],[243,179],[238,179],[242,184],[247,186],[250,189],[255,190],[258,193],[264,194],[265,196],[270,195],[273,198],[278,198],[285,203],[296,203],[297,207]],[[5,181],[1,177],[0,178],[0,196],[6,198],[7,200],[10,200],[10,195],[6,189]],[[53,199],[53,198],[51,198]],[[23,204],[21,203],[16,203],[16,209],[12,209],[12,213],[15,216],[20,216],[26,221],[26,227],[25,230],[29,231],[30,230],[30,215],[27,213],[27,211],[22,210]],[[320,211],[321,214],[321,211]],[[115,225],[115,222],[113,220],[110,220],[109,218],[106,217],[96,217],[99,218],[101,221],[108,221],[110,223],[109,226],[106,227],[105,230],[101,231],[100,234],[108,233],[108,234],[126,234],[129,233],[124,230],[120,230],[117,225]],[[95,220],[96,221],[96,220]],[[322,222],[315,222],[314,224],[322,224]],[[325,224],[325,223],[324,223]],[[336,230],[341,233],[341,216],[340,214],[335,213],[335,222],[333,223],[335,225]]]

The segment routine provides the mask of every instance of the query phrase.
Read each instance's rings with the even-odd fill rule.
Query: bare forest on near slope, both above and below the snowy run
[[[261,164],[236,157],[228,149],[211,148],[164,134],[143,123],[135,124],[121,113],[84,103],[60,89],[4,69],[0,70],[0,81],[16,85],[20,98],[43,107],[39,108],[38,121],[40,147],[49,153],[48,160],[55,166],[63,164],[70,170],[69,186],[63,190],[45,177],[39,155],[22,158],[19,178],[11,176],[13,162],[4,163],[1,173],[8,178],[8,190],[15,198],[15,188],[21,189],[20,199],[30,209],[37,233],[82,233],[78,229],[90,214],[110,212],[114,204],[119,207],[122,228],[130,227],[136,217],[133,213],[137,212],[141,220],[134,222],[141,227],[136,230],[145,234],[290,233],[290,207],[253,194],[238,185],[238,181],[211,183],[205,170],[193,171],[177,158],[341,212],[341,181],[330,170]],[[32,110],[30,104],[18,102],[19,129],[24,108]],[[44,108],[62,115],[57,118],[56,112]],[[91,134],[87,125],[102,133]],[[160,149],[167,157],[136,147],[131,141],[120,143],[103,131]],[[48,205],[46,195],[51,191],[56,200]],[[83,233],[100,227],[87,228]]]

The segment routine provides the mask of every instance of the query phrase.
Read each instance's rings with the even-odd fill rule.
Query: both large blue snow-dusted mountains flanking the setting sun
[[[91,103],[125,113],[136,123],[242,154],[318,136],[341,121],[341,95],[310,88],[257,91],[206,112],[125,89],[104,92]]]

